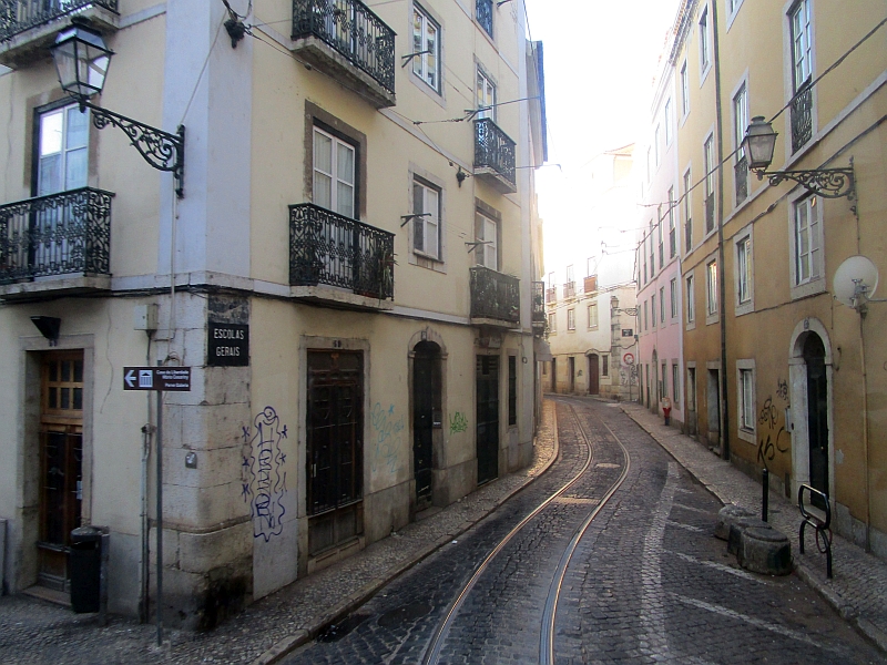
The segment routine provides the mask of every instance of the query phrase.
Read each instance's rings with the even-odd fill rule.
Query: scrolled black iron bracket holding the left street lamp
[[[78,99],[81,111],[92,110],[92,124],[96,130],[114,125],[123,130],[130,143],[139,151],[151,166],[157,171],[169,171],[175,178],[175,194],[179,198],[185,195],[185,125],[179,125],[175,134],[164,132],[137,120],[114,113],[90,103],[85,99]]]

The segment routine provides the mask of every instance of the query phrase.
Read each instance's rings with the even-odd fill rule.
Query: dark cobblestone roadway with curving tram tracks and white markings
[[[539,662],[540,616],[577,524],[571,513],[582,507],[588,514],[624,462],[600,419],[629,449],[631,468],[568,569],[555,626],[558,663],[880,662],[797,577],[738,569],[712,536],[721,502],[620,410],[590,400],[558,402],[562,457],[544,477],[388,585],[335,634],[285,662],[420,662],[486,552],[579,466],[581,446],[568,403],[594,443],[590,480],[501,550],[459,611],[441,663]]]

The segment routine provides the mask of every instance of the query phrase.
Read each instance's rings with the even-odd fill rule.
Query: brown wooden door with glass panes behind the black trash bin
[[[64,591],[83,498],[83,351],[47,354],[40,370],[38,582]]]

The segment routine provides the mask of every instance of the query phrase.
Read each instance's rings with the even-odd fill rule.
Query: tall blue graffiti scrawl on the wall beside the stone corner
[[[243,500],[249,503],[253,536],[268,542],[284,530],[286,513],[283,499],[286,494],[286,454],[281,441],[286,439],[286,426],[281,424],[277,412],[265,407],[253,419],[253,427],[243,428]]]

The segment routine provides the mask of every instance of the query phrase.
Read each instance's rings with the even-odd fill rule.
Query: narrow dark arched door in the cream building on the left
[[[416,509],[431,504],[435,428],[441,427],[440,347],[420,341],[412,358],[412,478]]]

